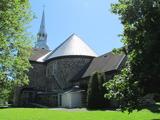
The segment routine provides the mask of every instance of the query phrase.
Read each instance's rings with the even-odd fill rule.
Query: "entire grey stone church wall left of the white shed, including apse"
[[[58,105],[58,93],[73,87],[76,80],[88,68],[93,57],[68,56],[46,63],[31,62],[29,85],[17,93],[21,106],[38,103],[47,106]],[[18,97],[19,96],[19,97]],[[32,98],[32,99],[30,99]]]

